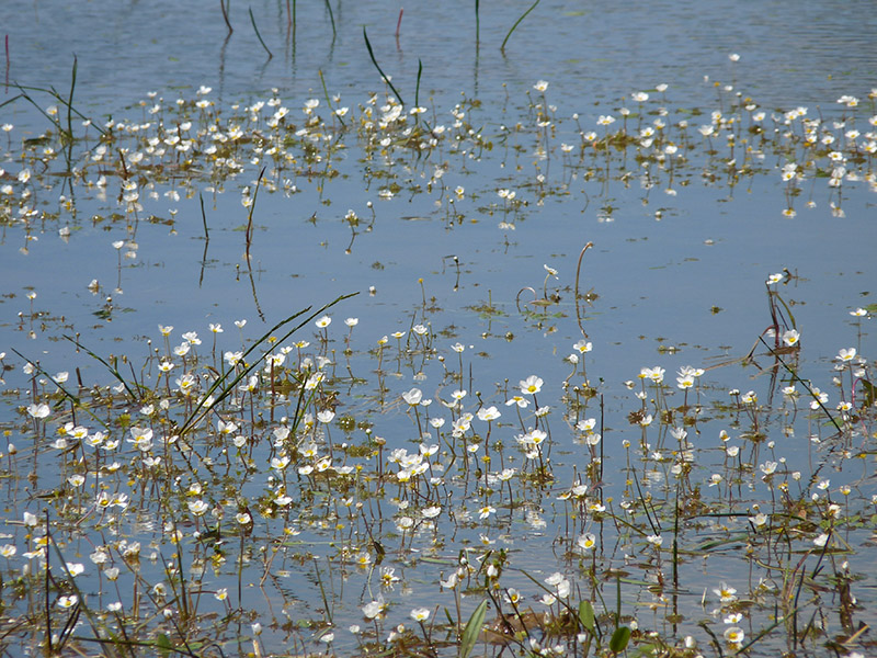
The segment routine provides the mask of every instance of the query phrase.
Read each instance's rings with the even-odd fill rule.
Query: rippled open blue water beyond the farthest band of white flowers
[[[8,16],[3,32],[10,35],[13,80],[66,80],[75,53],[82,63],[82,99],[106,113],[136,102],[151,87],[209,84],[229,100],[271,87],[305,95],[319,90],[318,69],[331,72],[329,82],[337,90],[374,87],[362,25],[368,26],[376,55],[399,88],[413,89],[420,59],[424,90],[445,100],[458,90],[489,98],[499,82],[515,87],[548,77],[579,109],[661,80],[684,88],[692,104],[699,105],[711,100],[708,90],[697,87],[709,76],[724,83],[745,80],[747,91],[768,107],[828,107],[843,93],[863,93],[850,83],[855,88],[856,80],[877,72],[870,9],[864,0],[802,2],[794,9],[784,2],[702,2],[696,10],[677,2],[652,2],[647,9],[543,2],[502,57],[498,45],[520,14],[517,8],[486,3],[477,58],[470,2],[406,8],[398,46],[398,7],[389,3],[334,3],[334,39],[324,7],[303,4],[295,41],[285,5],[265,3],[254,12],[276,54],[271,61],[243,7],[231,9],[230,37],[218,7],[191,1],[126,2],[113,11],[94,3],[34,4]],[[741,55],[736,72],[728,53]],[[475,89],[476,79],[480,89]]]

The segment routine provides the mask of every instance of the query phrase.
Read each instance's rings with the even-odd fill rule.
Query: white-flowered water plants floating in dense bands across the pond
[[[545,81],[446,110],[276,90],[224,105],[204,87],[89,120],[73,88],[4,101],[47,127],[2,125],[0,223],[30,259],[45,236],[115,231],[119,281],[90,286],[102,322],[149,258],[144,225],[203,224],[206,254],[205,198],[224,192],[252,281],[263,195],[326,201],[350,250],[394,197],[436,231],[511,236],[549,200],[610,222],[615,194],[660,206],[766,178],[777,214],[831,220],[847,190],[877,189],[877,92],[823,118],[722,86],[715,109],[687,107],[660,84],[586,122]],[[374,201],[335,211],[333,185]],[[468,309],[516,313],[532,336],[493,340],[521,351],[551,326],[576,336],[523,372],[488,367],[425,287],[386,336],[344,295],[254,331],[227,318],[123,344],[30,290],[0,358],[0,655],[873,655],[877,307],[833,308],[848,332],[805,368],[798,275],[765,272],[767,329],[724,370],[601,368],[590,247],[572,247],[574,280],[546,264],[516,303]]]

